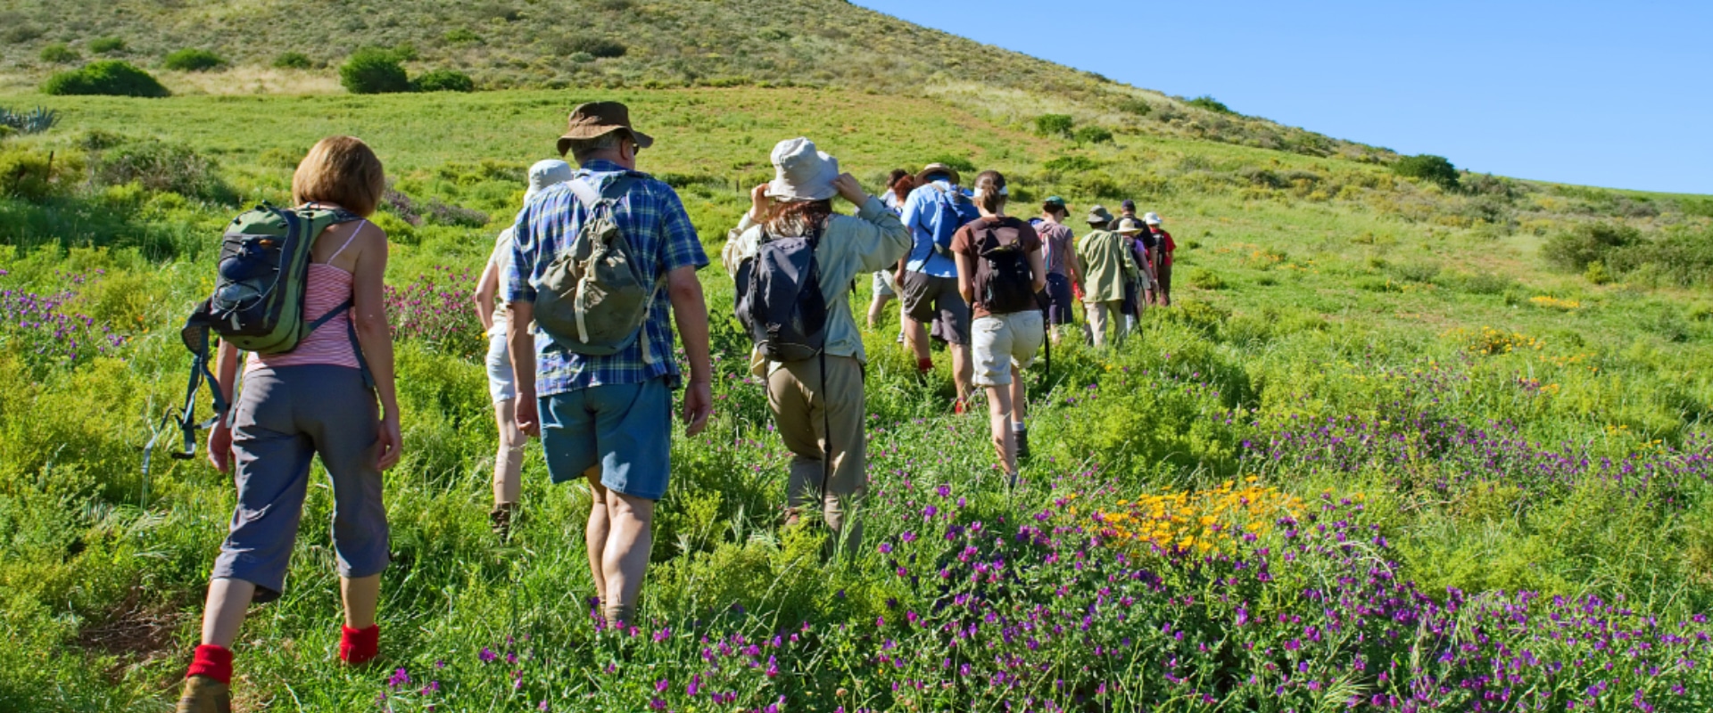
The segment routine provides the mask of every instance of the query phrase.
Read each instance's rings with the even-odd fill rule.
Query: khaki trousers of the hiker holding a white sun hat
[[[827,356],[826,364],[826,388],[821,380],[821,357],[773,364],[767,374],[767,405],[778,421],[779,438],[795,453],[786,484],[791,513],[800,513],[807,503],[819,498],[827,527],[848,551],[855,552],[862,542],[862,521],[851,521],[846,530],[845,520],[851,506],[868,491],[862,362],[853,357]],[[827,429],[833,429],[827,448],[833,451],[831,474],[822,448]],[[822,482],[826,482],[824,492]]]

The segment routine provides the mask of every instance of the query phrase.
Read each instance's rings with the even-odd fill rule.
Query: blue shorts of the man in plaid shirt
[[[601,486],[661,499],[671,472],[671,388],[666,378],[541,397],[541,448],[553,482],[601,467]]]

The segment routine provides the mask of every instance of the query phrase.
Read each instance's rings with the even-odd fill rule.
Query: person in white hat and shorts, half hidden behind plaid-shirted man
[[[524,205],[557,183],[569,181],[570,164],[548,159],[529,166],[529,188],[524,192]],[[510,321],[510,309],[498,296],[500,274],[505,272],[504,260],[512,255],[512,229],[500,231],[488,255],[488,265],[481,268],[481,280],[476,282],[476,318],[488,333],[488,395],[493,398],[493,419],[500,427],[500,446],[493,453],[493,510],[488,518],[493,532],[502,539],[510,535],[512,513],[517,511],[519,470],[524,463],[524,436],[512,417],[517,400],[517,383],[512,378],[510,352],[505,349],[505,327]]]

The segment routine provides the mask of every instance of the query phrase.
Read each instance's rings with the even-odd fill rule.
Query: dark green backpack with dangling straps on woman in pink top
[[[209,332],[247,352],[283,354],[296,349],[320,325],[351,309],[351,301],[346,299],[312,320],[303,315],[303,292],[308,287],[315,238],[329,226],[353,221],[360,217],[344,209],[276,209],[262,203],[226,226],[214,294],[197,304],[178,332],[192,361],[185,407],[176,419],[185,434],[185,450],[175,451],[173,458],[195,457],[195,433],[212,427],[226,415],[226,398],[209,369]],[[355,327],[351,342],[356,344]],[[356,357],[361,364],[361,349],[356,349]],[[367,364],[363,378],[368,380]],[[202,381],[214,392],[214,417],[197,422],[197,388]]]

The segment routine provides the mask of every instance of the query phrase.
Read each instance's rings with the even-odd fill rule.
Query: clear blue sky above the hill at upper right
[[[1713,193],[1710,0],[853,2],[1471,171]]]

